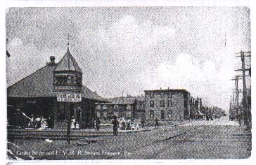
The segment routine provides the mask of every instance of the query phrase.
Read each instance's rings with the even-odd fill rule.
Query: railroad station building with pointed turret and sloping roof
[[[96,103],[105,102],[82,83],[82,69],[72,57],[70,50],[60,62],[51,62],[7,88],[8,124],[27,127],[27,119],[21,117],[41,116],[51,123],[53,129],[65,129],[68,112],[79,123],[79,129],[94,127]],[[58,94],[81,94],[80,102],[57,101]],[[19,109],[20,111],[18,111]]]

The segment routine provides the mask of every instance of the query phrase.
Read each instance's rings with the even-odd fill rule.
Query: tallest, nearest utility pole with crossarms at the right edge
[[[238,69],[236,71],[242,71],[243,73],[243,120],[244,120],[244,124],[246,126],[249,126],[249,112],[248,112],[248,99],[247,99],[247,92],[246,92],[246,82],[245,82],[245,71],[249,71],[249,69],[245,69],[245,57],[250,57],[250,55],[246,55],[245,53],[250,53],[250,52],[243,52],[241,50],[241,52],[239,54],[241,54],[240,56],[237,57],[241,57],[241,62],[242,62],[242,69]]]

